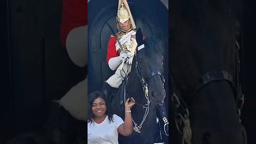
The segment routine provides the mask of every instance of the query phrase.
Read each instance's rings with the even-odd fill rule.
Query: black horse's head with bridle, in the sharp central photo
[[[160,39],[150,36],[142,39],[141,30],[137,30],[138,47],[134,54],[133,65],[143,89],[148,92],[149,100],[162,103],[165,98],[163,44]],[[147,90],[148,89],[148,90]]]

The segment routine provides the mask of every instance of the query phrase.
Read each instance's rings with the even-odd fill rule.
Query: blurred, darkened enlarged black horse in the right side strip
[[[237,43],[242,3],[169,3],[170,83],[178,135],[193,144],[247,143],[237,113],[237,102],[243,101]],[[173,143],[182,140],[175,140],[177,130],[170,134]]]

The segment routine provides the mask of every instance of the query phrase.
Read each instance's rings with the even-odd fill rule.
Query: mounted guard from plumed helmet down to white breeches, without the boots
[[[119,1],[116,22],[120,31],[110,36],[107,49],[108,66],[111,70],[116,70],[116,73],[108,78],[106,84],[118,89],[123,79],[130,73],[130,65],[137,47],[136,26],[126,1],[122,3]]]

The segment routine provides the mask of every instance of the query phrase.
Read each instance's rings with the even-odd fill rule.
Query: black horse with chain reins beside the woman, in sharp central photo
[[[163,44],[154,36],[143,41],[140,29],[137,30],[136,39],[138,47],[131,73],[112,98],[110,111],[124,119],[124,101],[133,97],[136,102],[131,109],[134,131],[129,137],[119,134],[119,143],[154,143],[157,132],[156,108],[165,98]]]

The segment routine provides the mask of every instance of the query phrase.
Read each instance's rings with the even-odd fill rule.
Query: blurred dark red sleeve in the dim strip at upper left
[[[87,25],[87,1],[63,0],[62,19],[60,29],[61,44],[66,46],[69,32],[77,27]]]

